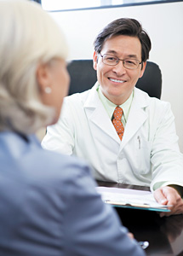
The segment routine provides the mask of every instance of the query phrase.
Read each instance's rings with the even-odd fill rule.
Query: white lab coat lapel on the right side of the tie
[[[134,137],[134,134],[140,129],[147,119],[144,108],[149,105],[148,96],[139,89],[134,88],[134,99],[129,111],[129,118],[124,129],[121,149]]]

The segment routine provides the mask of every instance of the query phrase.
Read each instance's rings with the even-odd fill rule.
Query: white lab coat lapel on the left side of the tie
[[[98,92],[96,91],[97,84],[89,91],[89,96],[84,102],[85,113],[89,119],[89,126],[91,127],[91,132],[99,132],[99,129],[102,133],[106,133],[108,136],[112,137],[117,143],[121,143],[117,132],[112,125],[112,120],[109,118],[106,113],[106,109],[103,104],[100,102]]]

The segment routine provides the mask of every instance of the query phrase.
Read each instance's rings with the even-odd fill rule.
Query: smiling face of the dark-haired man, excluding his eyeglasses
[[[135,59],[141,62],[141,44],[139,38],[119,35],[106,40],[101,55],[113,55],[119,59]],[[94,52],[94,69],[104,96],[116,105],[121,105],[129,98],[138,79],[142,77],[146,62],[137,69],[123,67],[123,61],[116,66],[103,63],[102,57]]]

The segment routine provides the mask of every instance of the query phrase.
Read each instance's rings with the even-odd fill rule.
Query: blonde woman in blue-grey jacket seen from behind
[[[89,166],[44,150],[69,86],[59,26],[36,3],[0,1],[0,255],[144,255],[95,192]]]

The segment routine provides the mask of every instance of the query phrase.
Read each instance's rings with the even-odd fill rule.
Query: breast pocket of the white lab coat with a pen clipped
[[[136,137],[134,145],[135,167],[140,174],[151,172],[152,142],[140,136]]]

